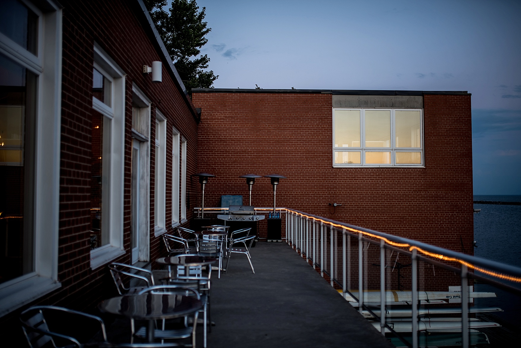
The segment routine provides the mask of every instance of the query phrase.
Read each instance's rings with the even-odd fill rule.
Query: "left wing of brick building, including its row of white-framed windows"
[[[21,334],[22,309],[91,308],[115,293],[107,263],[164,255],[199,115],[142,1],[1,6],[0,320]]]

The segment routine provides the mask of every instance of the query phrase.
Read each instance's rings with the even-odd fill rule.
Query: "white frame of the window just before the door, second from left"
[[[102,233],[108,233],[107,245],[91,250],[91,268],[101,267],[124,255],[123,184],[125,182],[125,72],[94,43],[94,67],[111,80],[111,106],[92,97],[92,108],[110,122],[110,133],[103,134]],[[105,127],[104,127],[105,129]],[[108,189],[107,189],[108,187]]]

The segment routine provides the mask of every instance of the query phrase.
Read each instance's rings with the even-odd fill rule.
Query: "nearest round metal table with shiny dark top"
[[[117,296],[98,305],[102,312],[148,320],[146,330],[148,342],[154,342],[154,320],[184,317],[197,312],[202,307],[202,302],[194,296],[175,294]]]

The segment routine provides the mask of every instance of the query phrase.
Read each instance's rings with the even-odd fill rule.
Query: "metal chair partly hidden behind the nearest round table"
[[[175,294],[175,295],[184,295],[184,296],[195,296],[197,300],[201,300],[203,302],[203,308],[205,308],[205,318],[206,318],[206,299],[203,299],[201,294],[195,289],[181,287],[179,285],[155,285],[154,287],[150,287],[148,289],[144,289],[139,292],[139,295],[142,294]],[[198,311],[201,312],[201,311]],[[162,325],[160,329],[155,329],[154,337],[157,339],[163,340],[175,340],[175,339],[185,339],[192,337],[192,347],[195,347],[195,329],[197,327],[197,313],[195,312],[193,315],[192,326],[188,326],[188,316],[184,317],[184,328],[181,329],[166,329],[166,320],[163,319]],[[157,327],[157,325],[156,325]],[[131,327],[132,335],[140,338],[146,338],[146,328],[143,326],[139,330],[134,332],[134,326]]]

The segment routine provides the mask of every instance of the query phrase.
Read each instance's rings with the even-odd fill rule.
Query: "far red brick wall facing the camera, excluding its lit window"
[[[469,95],[425,95],[425,168],[333,168],[331,94],[194,93],[202,108],[206,206],[242,194],[245,173],[278,173],[277,206],[472,253]],[[200,195],[198,196],[200,205]],[[328,203],[342,203],[333,213]],[[267,178],[252,204],[272,206]],[[261,224],[261,229],[262,229]],[[461,240],[460,240],[461,236]],[[262,232],[261,232],[262,237]]]

